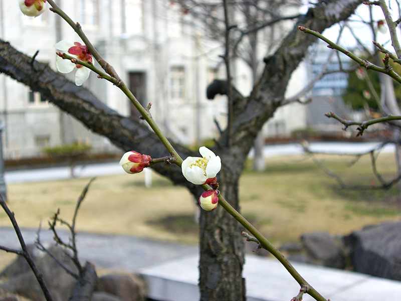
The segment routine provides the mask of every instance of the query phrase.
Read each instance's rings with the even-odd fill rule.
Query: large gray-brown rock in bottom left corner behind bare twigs
[[[76,279],[68,274],[50,255],[29,245],[28,250],[42,273],[44,281],[54,301],[67,301],[71,295]],[[74,273],[78,273],[72,260],[65,255],[61,247],[49,247],[49,251],[63,265]],[[45,296],[38,280],[22,256],[18,256],[0,273],[0,290],[17,293],[33,301],[45,301]]]

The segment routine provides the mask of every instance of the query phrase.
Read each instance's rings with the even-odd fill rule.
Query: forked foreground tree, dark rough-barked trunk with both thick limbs
[[[276,53],[265,60],[265,70],[251,95],[247,98],[239,94],[235,96],[231,137],[227,139],[228,132],[223,132],[214,150],[223,162],[219,179],[221,192],[237,210],[238,180],[253,141],[262,125],[281,105],[291,73],[304,58],[308,46],[315,41],[300,32],[297,26],[322,32],[348,18],[360,3],[362,0],[333,0],[309,10]],[[3,41],[0,41],[0,72],[39,91],[44,98],[124,150],[135,149],[154,158],[167,155],[155,135],[141,122],[121,116],[88,90],[75,86],[47,65],[36,61],[31,63],[31,58]],[[226,141],[230,141],[230,147]],[[183,158],[193,155],[180,145],[174,147]],[[199,195],[199,189],[186,182],[178,168],[156,165],[155,170],[174,184],[187,187],[196,198]],[[222,208],[213,212],[203,211],[199,235],[201,299],[245,300],[243,241],[239,224]]]

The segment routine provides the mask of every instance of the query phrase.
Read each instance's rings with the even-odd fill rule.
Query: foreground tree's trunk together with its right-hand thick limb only
[[[299,31],[298,26],[322,32],[331,25],[347,19],[362,3],[331,1],[318,5],[297,22],[278,50],[265,59],[265,69],[251,95],[234,100],[234,123],[231,137],[223,132],[215,147],[224,167],[219,183],[222,193],[239,211],[238,180],[255,137],[263,124],[273,116],[284,100],[284,93],[292,72],[316,41]],[[231,141],[227,147],[226,141]],[[219,209],[217,214],[203,212],[200,227],[200,292],[201,300],[245,300],[245,281],[241,278],[243,242],[238,224]]]

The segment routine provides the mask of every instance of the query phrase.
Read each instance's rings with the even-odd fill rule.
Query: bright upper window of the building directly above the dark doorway
[[[128,34],[143,33],[143,1],[125,0],[124,32]]]

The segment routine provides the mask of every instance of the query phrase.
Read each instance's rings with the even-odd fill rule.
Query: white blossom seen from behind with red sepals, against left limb
[[[85,45],[81,45],[78,42],[71,42],[68,40],[63,40],[54,45],[58,51],[66,53],[70,56],[73,56],[81,61],[92,64],[92,55],[88,51],[88,47]],[[90,69],[85,68],[82,65],[74,64],[71,60],[63,59],[60,56],[57,56],[56,59],[56,68],[61,73],[70,73],[75,68],[77,68],[77,72],[75,73],[75,84],[77,86],[81,86],[89,77]]]

